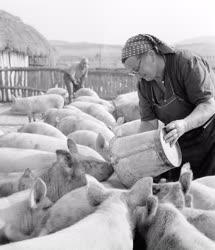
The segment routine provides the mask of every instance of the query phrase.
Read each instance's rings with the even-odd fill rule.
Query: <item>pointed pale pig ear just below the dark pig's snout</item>
[[[109,192],[94,177],[86,174],[87,180],[87,197],[92,206],[97,206],[102,203],[108,196]]]

